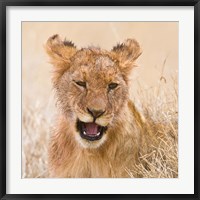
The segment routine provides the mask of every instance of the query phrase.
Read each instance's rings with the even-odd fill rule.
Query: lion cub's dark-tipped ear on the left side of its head
[[[62,75],[70,67],[70,58],[76,53],[75,45],[70,41],[62,41],[59,35],[53,35],[47,40],[46,52],[55,67],[57,75]]]

